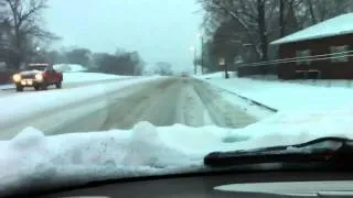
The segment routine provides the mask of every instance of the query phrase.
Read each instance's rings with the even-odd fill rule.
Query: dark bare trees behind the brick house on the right
[[[353,10],[353,0],[196,0],[205,10],[203,63],[218,70],[227,64],[277,57],[269,43],[307,26]]]

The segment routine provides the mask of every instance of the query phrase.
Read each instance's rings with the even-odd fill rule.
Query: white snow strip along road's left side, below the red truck
[[[46,114],[47,112],[54,111],[60,114],[60,112],[71,111],[69,105],[85,105],[87,101],[96,101],[95,99],[101,98],[101,96],[109,96],[111,94],[120,94],[118,90],[137,85],[143,84],[151,80],[157,80],[162,77],[146,77],[120,81],[109,81],[104,84],[90,85],[85,87],[77,87],[71,89],[60,89],[60,90],[47,90],[40,92],[21,92],[18,95],[10,95],[8,97],[0,98],[0,129],[13,125],[18,121],[31,121],[39,114]],[[84,108],[95,110],[105,106],[107,100],[97,100],[97,102],[92,103],[92,108]],[[68,108],[66,107],[68,106]],[[9,108],[11,107],[11,108]],[[66,107],[66,108],[65,108]],[[25,109],[25,110],[24,110]],[[60,110],[60,111],[58,111]],[[63,116],[61,119],[55,119],[57,123],[69,119],[71,116],[76,116],[75,112],[71,114]],[[31,123],[31,122],[30,122]],[[15,124],[18,125],[18,124]],[[1,135],[6,135],[2,134]]]

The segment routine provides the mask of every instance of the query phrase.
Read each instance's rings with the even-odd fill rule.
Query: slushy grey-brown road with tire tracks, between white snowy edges
[[[224,128],[242,128],[257,121],[223,99],[207,84],[178,77],[137,84],[58,111],[2,129],[0,136],[13,136],[29,124],[46,134],[61,134],[130,129],[140,121],[149,121],[158,127],[182,123]]]

